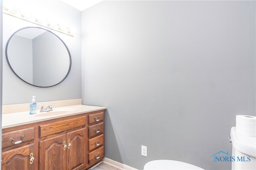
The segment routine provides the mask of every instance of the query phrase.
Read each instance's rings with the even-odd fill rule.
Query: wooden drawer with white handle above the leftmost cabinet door
[[[34,127],[3,133],[2,148],[18,145],[30,140],[34,140]]]

